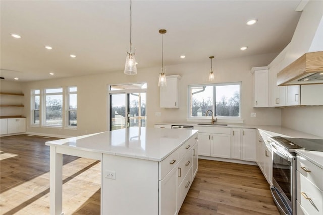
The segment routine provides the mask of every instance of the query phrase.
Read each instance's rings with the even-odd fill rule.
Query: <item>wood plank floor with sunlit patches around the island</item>
[[[0,214],[49,214],[49,147],[45,142],[57,138],[0,139]],[[100,162],[63,156],[63,163],[64,214],[100,214]],[[200,159],[179,214],[279,213],[257,166]]]

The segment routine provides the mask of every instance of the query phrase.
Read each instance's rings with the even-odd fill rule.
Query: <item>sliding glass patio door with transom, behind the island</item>
[[[110,130],[146,126],[146,83],[109,86]]]

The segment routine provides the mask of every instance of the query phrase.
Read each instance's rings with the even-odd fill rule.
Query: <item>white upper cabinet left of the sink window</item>
[[[178,108],[180,75],[166,76],[167,86],[160,87],[160,107]]]

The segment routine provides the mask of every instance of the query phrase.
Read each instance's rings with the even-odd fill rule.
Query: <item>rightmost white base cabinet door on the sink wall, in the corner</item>
[[[242,129],[242,160],[256,161],[256,129]]]

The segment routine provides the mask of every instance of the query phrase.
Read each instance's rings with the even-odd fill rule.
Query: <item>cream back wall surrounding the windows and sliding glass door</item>
[[[242,117],[245,124],[280,125],[280,109],[252,108],[252,67],[268,65],[277,54],[264,54],[244,58],[213,60],[216,82],[242,81]],[[186,122],[187,118],[187,85],[207,83],[210,62],[165,66],[167,75],[181,75],[180,80],[180,108],[159,107],[159,87],[157,86],[160,68],[138,68],[135,76],[124,75],[123,71],[96,74],[64,79],[23,83],[24,115],[27,116],[27,132],[43,133],[54,136],[75,136],[86,133],[106,131],[107,120],[107,85],[132,82],[147,82],[147,127],[153,127],[157,122],[176,121]],[[41,128],[30,126],[30,92],[32,89],[50,87],[77,86],[77,130]],[[161,116],[155,116],[161,112]],[[256,112],[257,117],[250,117]]]

